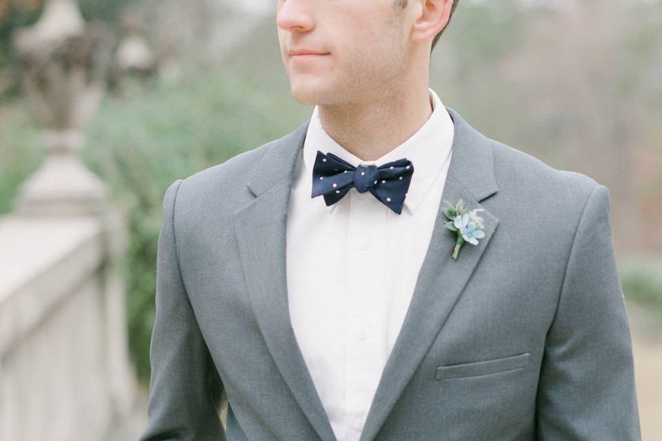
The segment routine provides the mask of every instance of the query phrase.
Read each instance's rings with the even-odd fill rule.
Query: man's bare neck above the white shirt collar
[[[431,114],[427,85],[370,102],[319,105],[325,132],[362,161],[374,161],[410,139]]]

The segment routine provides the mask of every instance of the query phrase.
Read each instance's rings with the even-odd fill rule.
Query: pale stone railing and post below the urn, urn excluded
[[[128,418],[124,238],[119,218],[0,218],[0,440],[103,440]]]

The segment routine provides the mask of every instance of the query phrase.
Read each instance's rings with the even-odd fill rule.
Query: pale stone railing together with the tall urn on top
[[[41,19],[15,36],[48,155],[0,217],[2,441],[107,440],[137,397],[126,215],[79,155],[105,88],[105,41],[103,26],[85,23],[74,0],[47,0]]]

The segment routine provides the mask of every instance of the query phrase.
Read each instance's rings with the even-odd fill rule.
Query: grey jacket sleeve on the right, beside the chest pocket
[[[610,229],[596,185],[579,219],[536,399],[538,440],[641,440],[632,341]]]

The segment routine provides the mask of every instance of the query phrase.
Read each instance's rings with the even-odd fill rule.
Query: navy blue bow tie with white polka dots
[[[400,214],[413,173],[414,165],[407,158],[379,167],[354,167],[332,153],[323,154],[318,150],[312,167],[311,197],[324,196],[326,205],[333,205],[355,187],[359,193],[372,193],[381,203]]]

